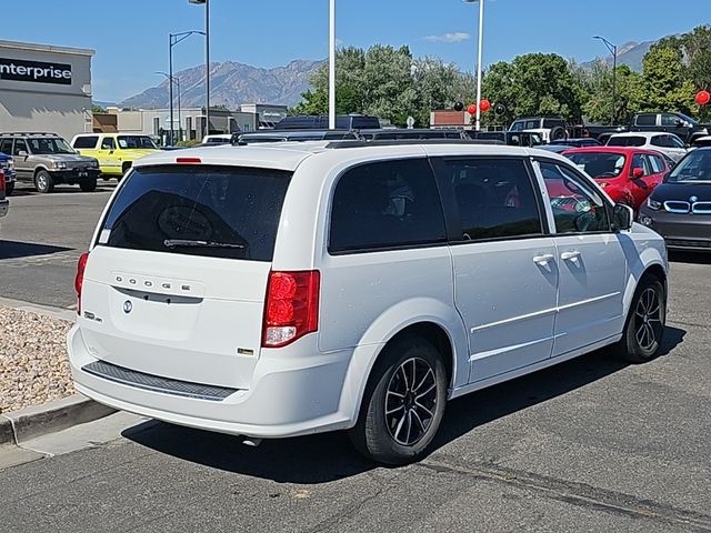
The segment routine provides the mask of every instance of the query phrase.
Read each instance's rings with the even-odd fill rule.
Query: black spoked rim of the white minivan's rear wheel
[[[437,413],[434,369],[420,358],[404,361],[390,378],[385,392],[385,423],[390,436],[403,446],[420,442]]]

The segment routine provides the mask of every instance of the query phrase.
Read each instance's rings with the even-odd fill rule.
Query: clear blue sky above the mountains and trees
[[[7,0],[6,0],[7,1]],[[528,52],[587,61],[612,42],[647,41],[711,23],[711,0],[484,0],[483,64]],[[119,101],[162,81],[168,34],[202,30],[188,0],[12,1],[1,39],[91,48],[96,100]],[[328,0],[210,0],[211,60],[276,67],[328,54]],[[477,4],[461,0],[337,0],[339,43],[408,44],[473,69]],[[176,70],[204,61],[192,36],[173,49]]]

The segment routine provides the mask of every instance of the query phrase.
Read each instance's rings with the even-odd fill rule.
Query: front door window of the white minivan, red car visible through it
[[[604,201],[581,175],[558,164],[541,162],[558,233],[610,231]]]

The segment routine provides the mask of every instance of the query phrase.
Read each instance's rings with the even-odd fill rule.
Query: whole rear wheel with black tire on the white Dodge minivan
[[[419,335],[395,341],[371,372],[351,442],[380,463],[418,461],[444,415],[447,383],[444,362],[432,343]]]

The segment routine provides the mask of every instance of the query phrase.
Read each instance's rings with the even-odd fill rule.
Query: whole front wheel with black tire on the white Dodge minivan
[[[612,346],[614,353],[631,363],[654,359],[667,323],[667,291],[653,276],[640,281],[624,324],[622,339]]]

